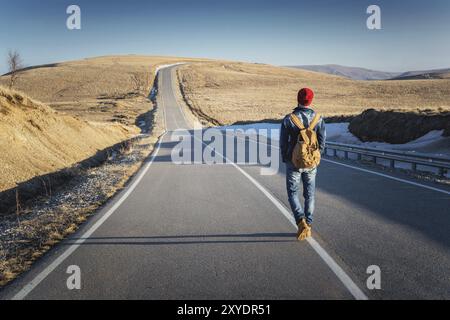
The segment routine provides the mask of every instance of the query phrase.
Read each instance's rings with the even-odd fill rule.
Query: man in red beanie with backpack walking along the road
[[[281,157],[286,163],[286,188],[298,226],[298,240],[311,236],[316,173],[325,150],[325,121],[310,107],[313,98],[311,89],[301,89],[297,97],[298,106],[281,124]],[[303,185],[304,208],[299,200],[300,183]]]

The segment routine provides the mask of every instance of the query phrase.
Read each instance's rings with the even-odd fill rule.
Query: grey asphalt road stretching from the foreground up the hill
[[[313,239],[298,242],[283,168],[262,176],[259,165],[172,163],[171,132],[192,128],[172,73],[160,71],[168,132],[158,150],[1,298],[450,298],[449,189],[325,160]],[[381,289],[367,287],[371,265]],[[67,287],[69,266],[80,290]]]

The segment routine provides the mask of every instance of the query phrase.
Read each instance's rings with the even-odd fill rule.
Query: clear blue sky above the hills
[[[81,7],[82,29],[66,28]],[[381,7],[382,30],[366,28]],[[450,67],[450,1],[0,0],[0,72],[110,54],[208,57],[275,65],[336,63],[384,71]]]

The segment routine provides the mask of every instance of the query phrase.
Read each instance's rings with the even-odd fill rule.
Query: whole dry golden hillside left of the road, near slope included
[[[0,191],[58,171],[140,132],[158,65],[193,59],[109,56],[0,77]],[[32,100],[36,99],[36,100]],[[42,102],[37,102],[42,101]]]

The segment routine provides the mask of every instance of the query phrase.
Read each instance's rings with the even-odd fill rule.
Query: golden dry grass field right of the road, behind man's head
[[[369,108],[450,110],[450,79],[354,81],[270,65],[207,62],[180,67],[185,99],[205,123],[281,119],[297,104],[301,87],[315,91],[313,106],[325,116]]]

